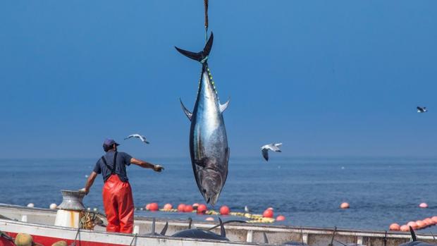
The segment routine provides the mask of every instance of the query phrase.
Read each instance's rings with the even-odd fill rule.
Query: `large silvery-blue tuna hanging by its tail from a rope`
[[[183,105],[183,111],[191,121],[190,156],[197,187],[205,201],[214,206],[228,176],[229,147],[226,137],[223,111],[228,106],[221,105],[216,87],[208,68],[208,55],[211,51],[213,34],[209,37],[203,51],[198,53],[176,49],[184,56],[202,63],[199,90],[192,113]]]

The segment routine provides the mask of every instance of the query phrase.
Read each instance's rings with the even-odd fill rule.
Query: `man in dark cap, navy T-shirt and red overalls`
[[[135,164],[142,168],[151,168],[156,172],[164,170],[164,167],[135,159],[125,152],[117,152],[118,145],[120,144],[112,139],[104,140],[103,149],[106,154],[97,161],[82,190],[88,194],[97,174],[101,173],[104,180],[103,204],[108,219],[106,231],[132,233],[134,206],[126,166]]]

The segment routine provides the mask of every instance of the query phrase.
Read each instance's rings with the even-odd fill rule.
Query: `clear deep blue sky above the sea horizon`
[[[435,156],[436,1],[209,3],[231,156]],[[203,1],[1,1],[0,157],[189,156]],[[417,105],[429,113],[415,112]],[[124,141],[130,133],[151,144]]]

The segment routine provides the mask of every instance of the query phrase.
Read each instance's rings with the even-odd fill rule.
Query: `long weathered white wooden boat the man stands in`
[[[49,228],[50,231],[56,231],[63,235],[75,235],[78,229],[64,228],[54,225],[56,210],[53,209],[38,209],[19,207],[8,204],[0,204],[0,230],[11,231],[11,228],[16,232],[35,233],[42,228]],[[5,217],[7,219],[5,219]],[[171,238],[145,236],[152,230],[153,218],[135,216],[135,227],[139,236],[135,240],[140,240],[144,244],[139,245],[266,245],[264,244],[264,235],[266,233],[269,238],[269,244],[277,245],[287,241],[304,242],[311,246],[344,246],[347,244],[359,244],[368,246],[395,246],[403,242],[410,241],[410,233],[390,232],[390,231],[371,231],[371,230],[347,230],[336,229],[333,238],[334,228],[307,228],[307,227],[293,227],[293,226],[272,226],[252,223],[228,223],[225,225],[226,237],[231,242],[216,241],[216,240],[195,240],[187,238]],[[156,219],[156,232],[159,232],[167,221],[163,219]],[[166,235],[173,235],[179,230],[187,229],[187,221],[171,220],[168,221],[168,230]],[[198,222],[193,221],[192,226],[199,229],[209,229],[216,226],[214,222]],[[26,230],[26,231],[23,231]],[[120,245],[130,245],[133,240],[133,235],[126,235],[120,233],[106,233],[105,228],[96,226],[94,230],[81,230],[82,239],[90,235],[105,235],[104,238],[113,238],[116,235],[116,242]],[[49,231],[49,230],[48,230]],[[215,233],[220,233],[219,228],[213,229]],[[54,233],[54,236],[56,235]],[[74,236],[72,236],[74,239]],[[424,242],[436,242],[433,235],[417,234],[417,238]],[[90,238],[88,238],[90,239]],[[171,242],[170,244],[167,244]],[[202,242],[202,244],[199,244]]]

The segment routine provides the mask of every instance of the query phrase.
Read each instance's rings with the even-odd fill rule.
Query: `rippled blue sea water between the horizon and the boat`
[[[437,215],[437,159],[414,158],[261,158],[230,160],[226,185],[215,209],[232,211],[247,205],[262,213],[267,207],[286,220],[276,224],[386,230],[390,223],[407,223]],[[0,203],[49,207],[61,202],[61,189],[79,189],[95,159],[0,160]],[[189,159],[149,159],[163,164],[163,173],[128,167],[135,207],[149,202],[204,202],[197,190]],[[102,208],[101,176],[87,207]],[[351,208],[339,209],[341,202]],[[418,204],[426,202],[428,209]],[[137,211],[137,215],[186,218],[187,214]],[[203,219],[197,216],[197,219]],[[437,226],[424,232],[437,230]]]

